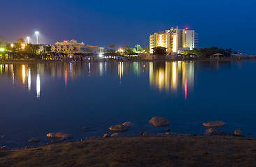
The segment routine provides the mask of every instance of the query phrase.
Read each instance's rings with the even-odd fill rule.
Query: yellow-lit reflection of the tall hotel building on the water
[[[150,62],[150,86],[166,93],[184,92],[194,88],[194,62]]]

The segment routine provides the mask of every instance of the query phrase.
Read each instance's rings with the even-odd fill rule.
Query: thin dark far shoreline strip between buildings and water
[[[58,61],[58,60],[0,60],[0,64],[22,64],[22,63],[87,63],[87,62],[157,62],[157,61],[256,61],[255,58],[220,58],[220,59],[211,59],[211,58],[199,58],[199,59],[155,59],[155,60],[113,60],[113,59],[102,59],[94,61]]]

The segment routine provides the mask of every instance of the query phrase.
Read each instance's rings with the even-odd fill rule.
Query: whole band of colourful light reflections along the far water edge
[[[90,63],[39,63],[39,64],[6,64],[0,65],[0,79],[12,78],[14,84],[22,84],[28,92],[36,92],[41,96],[42,79],[50,77],[62,81],[65,88],[69,80],[80,77],[104,77],[109,75],[118,77],[120,84],[125,75],[133,74],[140,77],[145,73],[149,77],[151,88],[159,92],[182,94],[187,97],[194,89],[194,77],[197,75],[195,67],[218,70],[221,66],[230,67],[230,62],[90,62]],[[241,65],[241,63],[239,64]],[[118,74],[118,75],[117,75]],[[53,83],[53,82],[52,82]]]

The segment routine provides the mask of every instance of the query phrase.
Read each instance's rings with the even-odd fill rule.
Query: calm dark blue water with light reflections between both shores
[[[121,135],[164,133],[153,116],[174,133],[204,134],[203,122],[222,120],[221,130],[256,137],[255,76],[256,61],[2,64],[0,146],[47,143],[50,132],[113,134],[126,121],[134,127]]]

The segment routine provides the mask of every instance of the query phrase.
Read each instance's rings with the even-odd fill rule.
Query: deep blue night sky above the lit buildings
[[[39,31],[39,43],[78,40],[85,45],[149,45],[149,36],[176,27],[199,33],[199,48],[256,54],[255,0],[1,0],[0,40]]]

